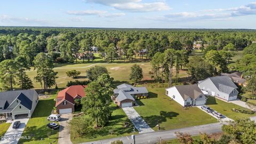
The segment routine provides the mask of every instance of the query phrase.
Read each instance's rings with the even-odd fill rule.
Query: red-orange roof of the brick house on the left
[[[60,91],[57,95],[57,101],[55,106],[58,106],[64,100],[67,100],[75,105],[74,99],[76,97],[85,97],[85,87],[87,87],[87,85],[71,85],[66,89]]]

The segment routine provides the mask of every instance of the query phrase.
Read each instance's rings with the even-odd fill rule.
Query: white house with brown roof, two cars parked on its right
[[[180,103],[181,106],[201,106],[206,104],[207,98],[196,84],[175,85],[165,89],[165,94]]]

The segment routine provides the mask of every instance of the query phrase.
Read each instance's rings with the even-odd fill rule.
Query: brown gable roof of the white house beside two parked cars
[[[196,99],[199,95],[204,95],[203,92],[199,89],[197,84],[193,85],[176,85],[174,86],[179,91],[183,100],[188,98]]]

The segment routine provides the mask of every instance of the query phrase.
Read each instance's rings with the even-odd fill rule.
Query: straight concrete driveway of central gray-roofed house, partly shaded
[[[125,107],[123,110],[139,133],[154,132],[133,107]]]

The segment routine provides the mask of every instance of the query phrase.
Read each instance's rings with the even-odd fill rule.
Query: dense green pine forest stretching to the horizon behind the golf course
[[[92,46],[109,62],[150,60],[154,78],[169,81],[169,85],[172,84],[169,71],[174,66],[178,76],[178,70],[188,65],[193,81],[230,69],[251,76],[255,74],[255,32],[247,29],[0,27],[1,89],[12,90],[15,79],[22,89],[33,87],[24,72],[31,66],[37,69],[37,82],[47,89],[57,78],[53,63],[73,63],[81,57],[93,60],[90,59]],[[199,45],[204,58],[188,59],[194,45]],[[233,52],[238,50],[244,50],[243,58],[228,68]]]

